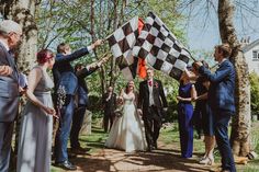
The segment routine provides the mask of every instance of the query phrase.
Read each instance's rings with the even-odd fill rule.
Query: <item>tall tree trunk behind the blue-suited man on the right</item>
[[[233,48],[230,60],[236,69],[236,115],[232,121],[230,144],[235,156],[247,156],[250,151],[250,83],[248,66],[240,50],[233,24],[235,7],[232,0],[218,0],[218,24],[223,43]]]

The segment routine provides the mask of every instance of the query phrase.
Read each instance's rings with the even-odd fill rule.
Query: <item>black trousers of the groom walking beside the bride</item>
[[[156,147],[161,128],[161,110],[156,106],[149,106],[143,113],[147,146],[149,148]]]

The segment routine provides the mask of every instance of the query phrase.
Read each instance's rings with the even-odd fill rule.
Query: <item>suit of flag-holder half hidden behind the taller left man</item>
[[[93,73],[99,67],[87,69],[83,68],[81,71],[77,72],[78,78],[78,108],[76,110],[74,116],[72,116],[72,126],[71,126],[71,133],[70,133],[70,145],[71,148],[78,148],[80,147],[80,142],[78,140],[79,131],[82,127],[83,117],[86,114],[86,110],[88,106],[88,87],[86,82],[86,77]]]

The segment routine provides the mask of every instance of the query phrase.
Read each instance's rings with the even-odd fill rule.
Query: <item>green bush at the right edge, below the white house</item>
[[[256,72],[250,73],[251,89],[251,114],[259,115],[259,76]]]

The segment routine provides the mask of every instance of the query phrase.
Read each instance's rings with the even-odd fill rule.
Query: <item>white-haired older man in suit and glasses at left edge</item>
[[[13,122],[18,114],[19,71],[10,50],[16,47],[21,35],[22,27],[18,23],[0,22],[0,172],[9,171]]]

